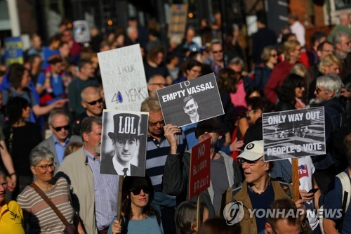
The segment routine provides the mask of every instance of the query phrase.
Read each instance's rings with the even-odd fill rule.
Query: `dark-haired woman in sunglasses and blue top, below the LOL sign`
[[[152,208],[154,188],[149,177],[126,176],[122,188],[121,216],[124,226],[114,219],[108,230],[112,233],[161,234],[161,221]]]

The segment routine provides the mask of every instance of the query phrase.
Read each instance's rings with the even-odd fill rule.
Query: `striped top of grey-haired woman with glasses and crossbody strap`
[[[63,177],[59,178],[53,189],[44,191],[44,193],[58,207],[67,221],[72,223],[74,210],[70,202],[67,180]],[[29,223],[29,233],[63,233],[65,224],[34,188],[27,186],[18,195],[17,202],[22,207],[25,223]]]

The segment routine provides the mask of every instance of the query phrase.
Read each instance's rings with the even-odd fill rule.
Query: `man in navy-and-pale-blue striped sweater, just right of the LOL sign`
[[[155,190],[152,205],[161,214],[164,233],[176,233],[176,225],[174,223],[176,197],[161,192],[164,165],[171,147],[164,137],[164,117],[159,100],[157,98],[146,98],[141,105],[141,111],[149,112],[145,174],[150,176]],[[183,153],[185,149],[186,140],[182,132],[178,136],[178,152]]]

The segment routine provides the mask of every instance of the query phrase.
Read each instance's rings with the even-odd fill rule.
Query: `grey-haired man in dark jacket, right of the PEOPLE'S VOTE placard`
[[[314,178],[322,193],[326,191],[329,182],[338,172],[343,171],[347,167],[346,162],[333,157],[333,134],[340,129],[341,113],[345,106],[340,102],[339,97],[343,82],[337,74],[326,74],[317,78],[316,103],[319,106],[324,106],[324,125],[326,138],[326,154],[312,157],[314,167]],[[343,156],[345,158],[345,156]]]

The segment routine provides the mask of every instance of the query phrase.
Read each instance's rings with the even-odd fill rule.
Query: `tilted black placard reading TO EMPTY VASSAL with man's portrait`
[[[166,124],[185,126],[223,115],[213,73],[157,90]]]

